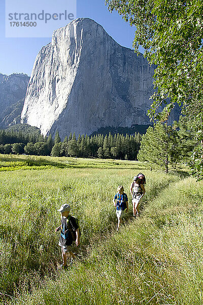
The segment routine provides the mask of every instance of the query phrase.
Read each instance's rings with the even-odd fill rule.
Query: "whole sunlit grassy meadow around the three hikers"
[[[203,183],[136,161],[0,156],[0,303],[201,304]],[[147,178],[141,217],[116,232],[112,198]],[[82,231],[77,260],[59,271],[57,208]]]

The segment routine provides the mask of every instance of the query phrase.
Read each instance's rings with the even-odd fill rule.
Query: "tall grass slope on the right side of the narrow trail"
[[[16,303],[201,304],[203,183],[162,190],[143,216]]]

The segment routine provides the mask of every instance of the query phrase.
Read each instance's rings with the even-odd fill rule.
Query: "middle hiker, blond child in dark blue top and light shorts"
[[[119,186],[117,189],[118,193],[114,196],[113,203],[114,206],[116,206],[116,216],[118,218],[118,226],[117,231],[119,228],[120,223],[122,223],[122,216],[124,213],[124,210],[126,209],[126,212],[128,211],[128,199],[127,195],[124,193],[123,186]]]

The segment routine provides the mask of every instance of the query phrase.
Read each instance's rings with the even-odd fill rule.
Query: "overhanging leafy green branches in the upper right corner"
[[[134,48],[141,45],[155,70],[155,93],[150,117],[159,119],[160,105],[165,113],[175,103],[196,139],[203,144],[203,2],[199,0],[107,0],[130,25],[136,26]],[[202,148],[195,149],[194,158],[202,162]],[[199,169],[198,169],[199,170]],[[195,172],[195,170],[194,170]],[[203,175],[202,175],[203,177]]]

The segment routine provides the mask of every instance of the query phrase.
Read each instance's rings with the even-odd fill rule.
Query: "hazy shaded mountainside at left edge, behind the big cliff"
[[[0,74],[0,127],[20,123],[29,77],[26,74]]]

